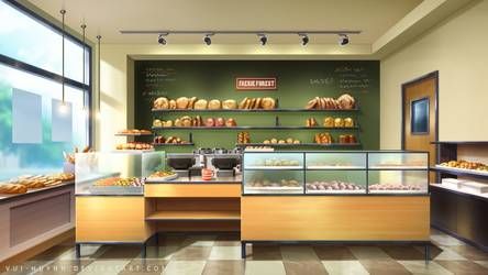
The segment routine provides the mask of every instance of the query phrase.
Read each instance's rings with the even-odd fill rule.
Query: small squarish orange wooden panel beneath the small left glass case
[[[145,208],[143,196],[78,196],[76,242],[145,242]]]

